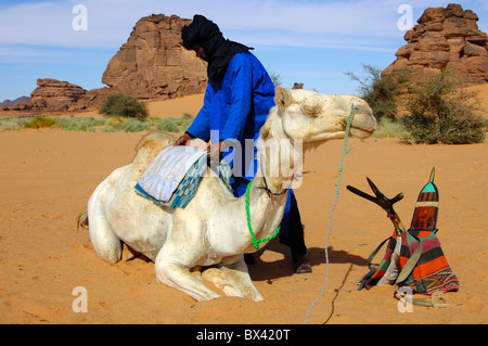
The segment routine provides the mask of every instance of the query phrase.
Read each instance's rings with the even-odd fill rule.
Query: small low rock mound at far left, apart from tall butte
[[[51,78],[37,79],[37,88],[30,93],[30,99],[11,107],[13,111],[57,112],[67,111],[87,90]]]

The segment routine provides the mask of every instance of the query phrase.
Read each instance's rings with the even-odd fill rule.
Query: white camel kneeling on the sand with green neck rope
[[[257,141],[261,174],[249,190],[251,223],[257,240],[269,238],[280,225],[290,188],[290,177],[270,174],[277,169],[267,165],[280,161],[271,159],[269,150],[260,149],[275,141],[280,157],[296,165],[301,162],[301,153],[292,144],[293,140],[301,139],[307,149],[308,144],[344,138],[351,107],[356,112],[350,134],[367,138],[376,129],[370,106],[356,97],[277,88],[274,100],[277,105],[270,110]],[[205,285],[202,277],[228,296],[264,300],[243,260],[243,254],[256,252],[247,227],[244,195],[234,197],[209,172],[202,177],[185,208],[162,207],[134,192],[145,168],[174,140],[157,132],[143,138],[133,161],[115,169],[98,185],[78,225],[89,228],[91,243],[101,258],[117,262],[126,244],[131,252],[155,262],[157,282],[196,300],[220,296]],[[296,171],[297,167],[292,169]],[[195,268],[210,266],[202,275],[192,273]]]

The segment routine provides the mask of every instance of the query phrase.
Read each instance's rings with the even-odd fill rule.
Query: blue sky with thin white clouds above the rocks
[[[361,64],[381,69],[406,43],[412,24],[433,0],[1,0],[0,101],[29,95],[37,78],[55,78],[87,90],[101,88],[110,59],[126,42],[136,22],[153,13],[192,18],[198,13],[217,23],[226,38],[255,48],[265,67],[322,93],[356,93],[344,72],[362,75]],[[488,31],[488,1],[458,1],[473,10]],[[87,29],[75,30],[74,8],[87,10]]]

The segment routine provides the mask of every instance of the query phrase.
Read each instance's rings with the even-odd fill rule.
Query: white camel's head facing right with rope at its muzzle
[[[352,107],[351,136],[368,138],[377,127],[371,107],[357,97],[277,88],[274,101],[285,134],[305,143],[344,138]]]

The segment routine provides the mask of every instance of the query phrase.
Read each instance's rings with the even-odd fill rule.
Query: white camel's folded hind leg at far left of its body
[[[99,202],[100,184],[88,201],[90,241],[97,254],[104,260],[115,264],[123,257],[123,243],[106,222],[105,213]]]

